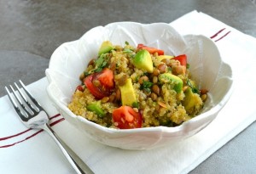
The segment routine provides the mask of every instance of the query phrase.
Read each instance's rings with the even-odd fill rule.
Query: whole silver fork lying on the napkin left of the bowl
[[[19,94],[17,94],[17,92],[15,93],[15,89],[11,85],[9,87],[14,95],[11,95],[8,87],[5,87],[9,99],[19,115],[20,120],[29,128],[44,129],[45,132],[49,133],[50,137],[55,140],[55,143],[57,143],[62,153],[66,156],[68,162],[73,166],[73,169],[77,173],[84,173],[84,171],[82,171],[78,164],[73,160],[71,155],[68,154],[67,150],[62,146],[61,141],[49,126],[49,115],[45,112],[42,106],[38,104],[37,100],[32,97],[32,94],[27,91],[22,81],[20,81],[20,85],[22,86],[21,89],[23,88],[26,95],[25,93],[22,93],[22,90],[16,83],[15,87],[17,88]],[[30,98],[31,101],[29,101],[26,96]],[[16,101],[18,101],[18,104]],[[24,102],[26,104],[24,104]]]

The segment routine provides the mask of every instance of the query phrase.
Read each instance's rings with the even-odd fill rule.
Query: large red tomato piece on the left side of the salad
[[[98,84],[95,85],[94,81],[97,81]],[[101,72],[87,76],[84,79],[84,84],[90,93],[98,99],[109,96],[114,88],[113,71],[104,69]]]

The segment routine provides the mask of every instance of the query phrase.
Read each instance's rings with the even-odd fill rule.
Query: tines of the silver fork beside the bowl
[[[9,92],[8,87],[5,87],[5,90],[8,93],[9,99],[10,99],[11,103],[13,104],[16,112],[20,116],[20,119],[22,121],[28,121],[33,116],[35,116],[36,113],[38,113],[38,110],[41,108],[41,106],[40,106],[40,104],[38,104],[38,102],[35,100],[35,98],[32,97],[32,94],[27,91],[24,83],[22,81],[19,81],[19,82],[21,85],[21,89],[23,89],[23,91],[26,93],[26,95],[24,93],[22,93],[22,91],[20,90],[20,87],[17,85],[17,83],[15,83],[15,88],[17,89],[19,95],[17,94],[17,91],[15,92],[14,87],[12,87],[11,85],[9,85],[9,87],[10,87],[13,95]],[[34,106],[28,101],[26,96],[28,98],[30,98],[30,100],[32,101]],[[24,104],[23,101],[26,104]],[[18,104],[17,104],[17,102],[18,102]]]

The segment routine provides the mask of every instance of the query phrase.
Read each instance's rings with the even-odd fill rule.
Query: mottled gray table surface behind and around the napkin
[[[170,23],[195,9],[256,37],[255,0],[0,0],[0,97],[13,81],[29,84],[44,77],[55,48],[92,27],[116,21]],[[255,132],[254,122],[190,173],[255,173]]]

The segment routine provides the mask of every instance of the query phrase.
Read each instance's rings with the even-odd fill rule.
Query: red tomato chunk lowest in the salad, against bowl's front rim
[[[121,106],[113,109],[113,121],[120,129],[133,129],[142,127],[143,117],[130,106]]]

